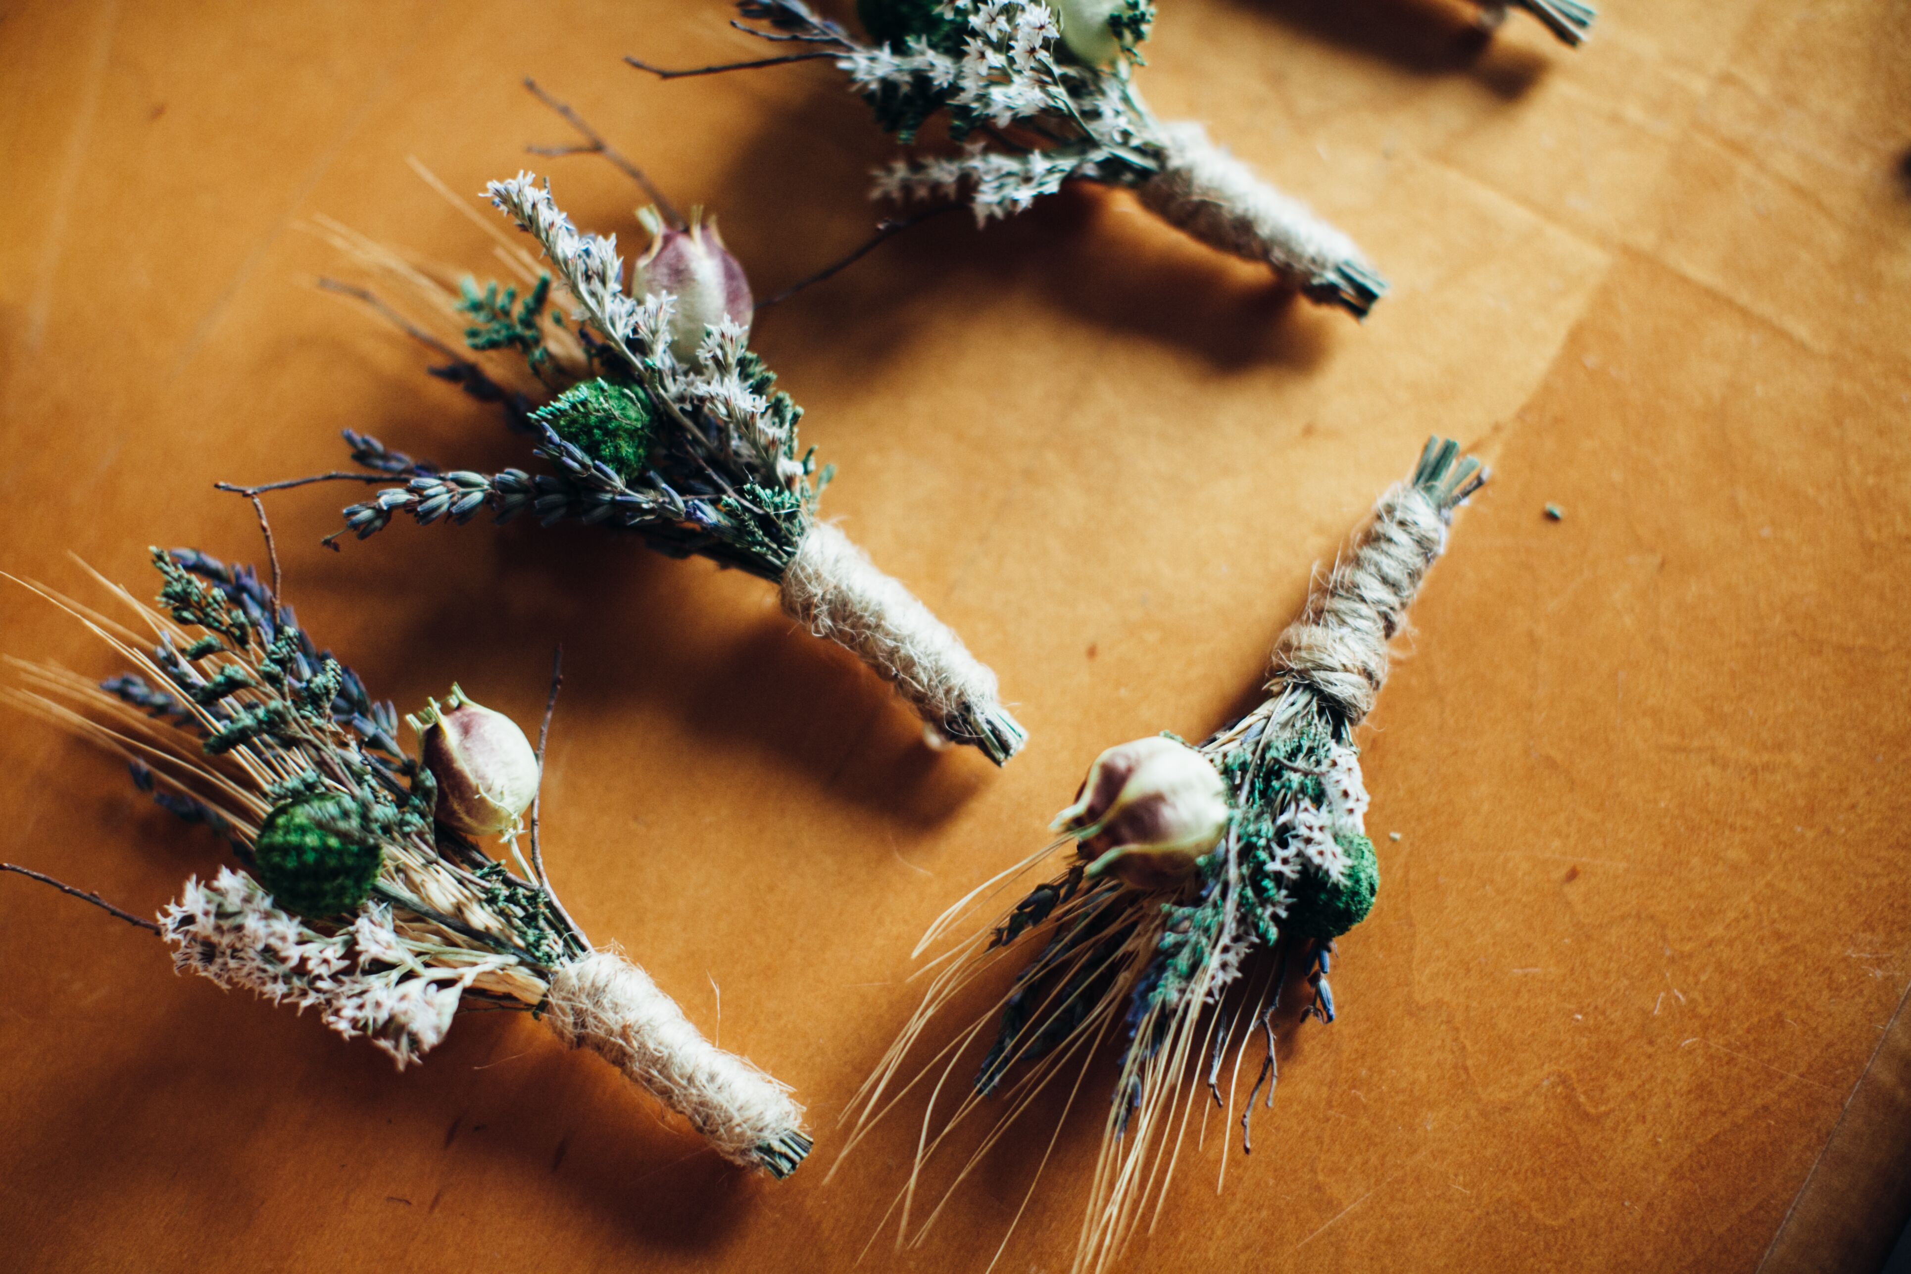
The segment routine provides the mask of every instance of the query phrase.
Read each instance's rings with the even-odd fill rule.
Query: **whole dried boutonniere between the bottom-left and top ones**
[[[543,256],[505,244],[512,285],[453,287],[342,225],[325,231],[426,302],[432,317],[415,323],[357,290],[451,359],[434,374],[501,403],[548,470],[443,472],[348,432],[355,464],[407,481],[346,508],[346,529],[365,539],[399,516],[426,525],[533,512],[545,525],[575,518],[634,531],[663,554],[698,554],[778,584],[793,619],[892,682],[934,737],[969,743],[996,764],[1013,756],[1026,735],[1001,705],[996,674],[818,518],[831,470],[799,451],[803,409],[774,390],[776,376],[749,350],[749,283],[715,223],[694,212],[678,229],[646,212],[652,246],[627,290],[615,237],[579,233],[548,183],[518,174],[487,193]],[[434,336],[434,321],[459,325],[466,353]],[[533,386],[512,388],[524,376],[499,359],[516,361]]]

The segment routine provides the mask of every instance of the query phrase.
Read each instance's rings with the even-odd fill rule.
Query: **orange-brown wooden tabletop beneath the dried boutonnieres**
[[[1309,571],[1429,432],[1496,481],[1364,733],[1384,888],[1342,944],[1342,1020],[1292,1037],[1259,1150],[1215,1198],[1210,1136],[1127,1266],[1877,1261],[1911,1129],[1888,1031],[1911,982],[1911,10],[1611,0],[1578,53],[1519,17],[1470,48],[1445,0],[1162,10],[1145,92],[1368,248],[1395,290],[1364,327],[1103,191],[938,222],[759,323],[841,466],[826,510],[999,670],[1032,732],[1007,770],[927,753],[757,581],[575,527],[397,525],[333,556],[352,493],[273,500],[300,615],[401,707],[457,678],[531,720],[566,644],[556,879],[705,1030],[720,987],[720,1041],[808,1102],[810,1167],[740,1175],[518,1016],[462,1018],[394,1073],[4,877],[0,1266],[847,1266],[913,1129],[826,1182],[835,1115],[912,1005],[913,938],[1040,842],[1101,747],[1244,707]],[[831,71],[619,61],[757,55],[722,19],[8,4],[0,565],[84,590],[75,550],[143,590],[149,542],[250,558],[210,483],[331,468],[346,426],[520,462],[417,348],[310,287],[336,262],[298,225],[482,265],[415,155],[457,191],[548,164],[581,223],[638,241],[608,166],[522,155],[566,139],[524,74],[720,208],[759,290],[856,243],[885,145]],[[111,669],[17,588],[0,632]],[[0,756],[10,860],[140,909],[218,860],[38,722],[13,714]],[[1066,1266],[1097,1125],[1063,1138],[1003,1268]],[[870,1268],[980,1270],[1026,1175],[990,1161],[923,1251],[883,1240]]]

